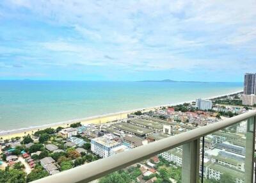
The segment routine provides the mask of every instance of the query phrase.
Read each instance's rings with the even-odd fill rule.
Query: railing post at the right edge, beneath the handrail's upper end
[[[252,118],[248,118],[247,120],[244,183],[253,182],[254,149],[255,149],[255,116]]]

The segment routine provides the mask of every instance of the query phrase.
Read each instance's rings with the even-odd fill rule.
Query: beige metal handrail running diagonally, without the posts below
[[[108,175],[113,171],[121,170],[122,168],[148,159],[154,155],[161,154],[166,150],[179,147],[180,145],[189,143],[195,139],[201,138],[202,136],[206,136],[207,134],[212,134],[213,132],[224,129],[225,127],[229,127],[247,120],[248,118],[252,118],[253,116],[256,116],[256,110],[244,113],[243,115],[227,118],[204,127],[198,127],[191,131],[182,132],[181,134],[164,138],[159,141],[149,143],[148,145],[143,145],[104,159],[99,159],[92,163],[77,166],[76,168],[62,171],[43,179],[35,180],[33,183],[90,182],[92,180],[99,179],[104,175]]]

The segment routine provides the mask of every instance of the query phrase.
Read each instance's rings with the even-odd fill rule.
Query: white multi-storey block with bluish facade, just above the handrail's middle
[[[115,147],[119,147],[122,144],[115,141],[113,136],[101,136],[91,140],[91,150],[94,154],[100,157],[108,157],[111,155],[111,150]]]

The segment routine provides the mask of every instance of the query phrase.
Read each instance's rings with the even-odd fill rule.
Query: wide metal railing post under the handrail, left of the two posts
[[[200,139],[182,146],[182,183],[197,183],[199,180]]]

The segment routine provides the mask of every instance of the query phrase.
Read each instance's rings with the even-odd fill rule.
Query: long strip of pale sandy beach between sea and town
[[[209,99],[215,99],[215,98],[218,98],[218,97],[223,97],[223,96],[226,96],[226,95],[234,95],[236,93],[241,93],[241,92],[243,92],[243,90],[239,90],[237,92],[227,93],[227,94],[223,94],[223,95],[216,95],[216,96],[212,96],[212,97],[207,97],[205,99],[208,99],[208,100]],[[46,129],[46,128],[49,128],[49,127],[52,127],[52,128],[68,127],[68,125],[70,125],[71,123],[76,123],[76,122],[81,122],[81,124],[107,123],[107,122],[127,118],[127,115],[129,115],[131,113],[134,113],[136,111],[147,112],[147,111],[150,111],[150,110],[159,109],[160,107],[167,107],[167,106],[175,106],[175,105],[179,105],[179,104],[184,104],[185,102],[191,103],[191,102],[195,102],[195,100],[187,100],[187,101],[177,102],[177,103],[172,103],[172,104],[163,104],[161,106],[152,106],[152,107],[144,107],[144,108],[139,108],[139,109],[131,109],[131,110],[120,111],[120,112],[116,112],[116,113],[108,113],[106,115],[90,116],[90,117],[86,117],[86,118],[67,120],[67,121],[64,121],[64,122],[57,122],[57,123],[49,123],[49,124],[46,124],[46,125],[38,125],[38,126],[34,126],[34,127],[25,127],[25,128],[21,128],[21,129],[0,131],[0,137],[3,138],[3,139],[15,138],[17,136],[22,137],[24,135],[32,134],[35,131]]]

